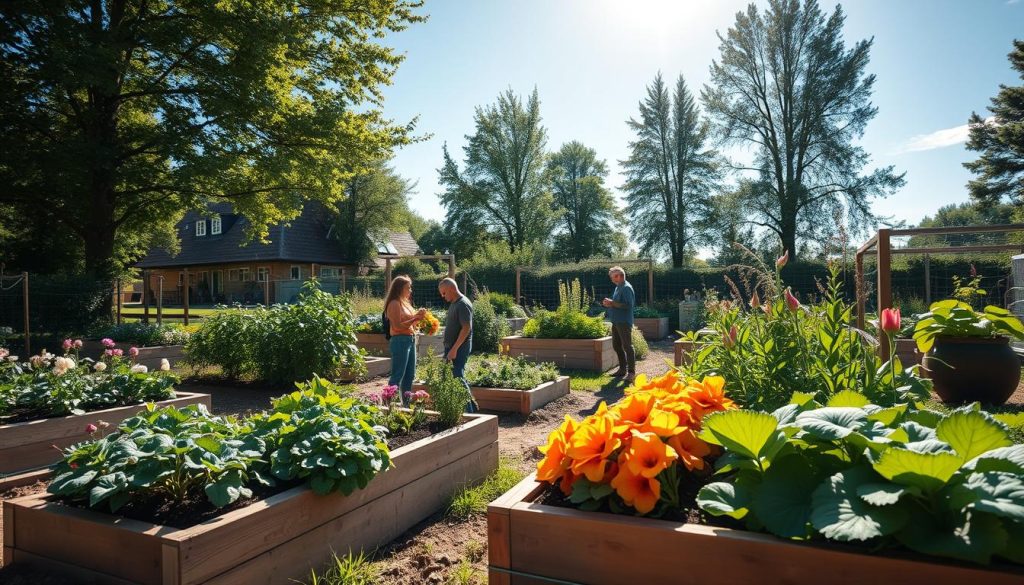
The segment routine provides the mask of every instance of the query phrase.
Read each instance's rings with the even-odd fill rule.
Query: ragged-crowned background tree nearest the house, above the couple
[[[475,131],[466,136],[464,168],[449,154],[438,174],[445,225],[452,232],[482,226],[503,239],[509,250],[546,240],[554,220],[552,199],[544,190],[547,130],[541,124],[537,89],[523,100],[511,89],[493,106],[477,108]]]

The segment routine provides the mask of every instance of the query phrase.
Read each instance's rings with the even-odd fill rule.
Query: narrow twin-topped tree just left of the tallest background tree
[[[670,95],[660,73],[647,86],[640,118],[627,124],[636,133],[621,163],[633,239],[641,254],[668,252],[672,265],[682,266],[708,241],[712,193],[722,176],[720,158],[708,144],[711,125],[683,76]]]

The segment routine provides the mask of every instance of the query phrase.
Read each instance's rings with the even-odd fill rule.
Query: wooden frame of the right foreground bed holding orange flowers
[[[588,583],[786,583],[901,585],[1024,583],[1024,570],[865,554],[700,525],[537,503],[527,477],[487,509],[490,585]]]

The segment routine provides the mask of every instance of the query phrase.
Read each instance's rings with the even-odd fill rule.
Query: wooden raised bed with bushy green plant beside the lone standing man
[[[590,299],[577,279],[558,283],[556,310],[538,310],[521,335],[502,339],[510,356],[534,362],[553,362],[561,368],[604,372],[617,364],[604,316],[589,317]]]

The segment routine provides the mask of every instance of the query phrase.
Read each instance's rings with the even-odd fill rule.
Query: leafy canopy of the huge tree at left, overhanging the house
[[[210,199],[263,237],[410,140],[381,113],[402,56],[380,37],[421,4],[0,3],[0,203],[101,277]]]

